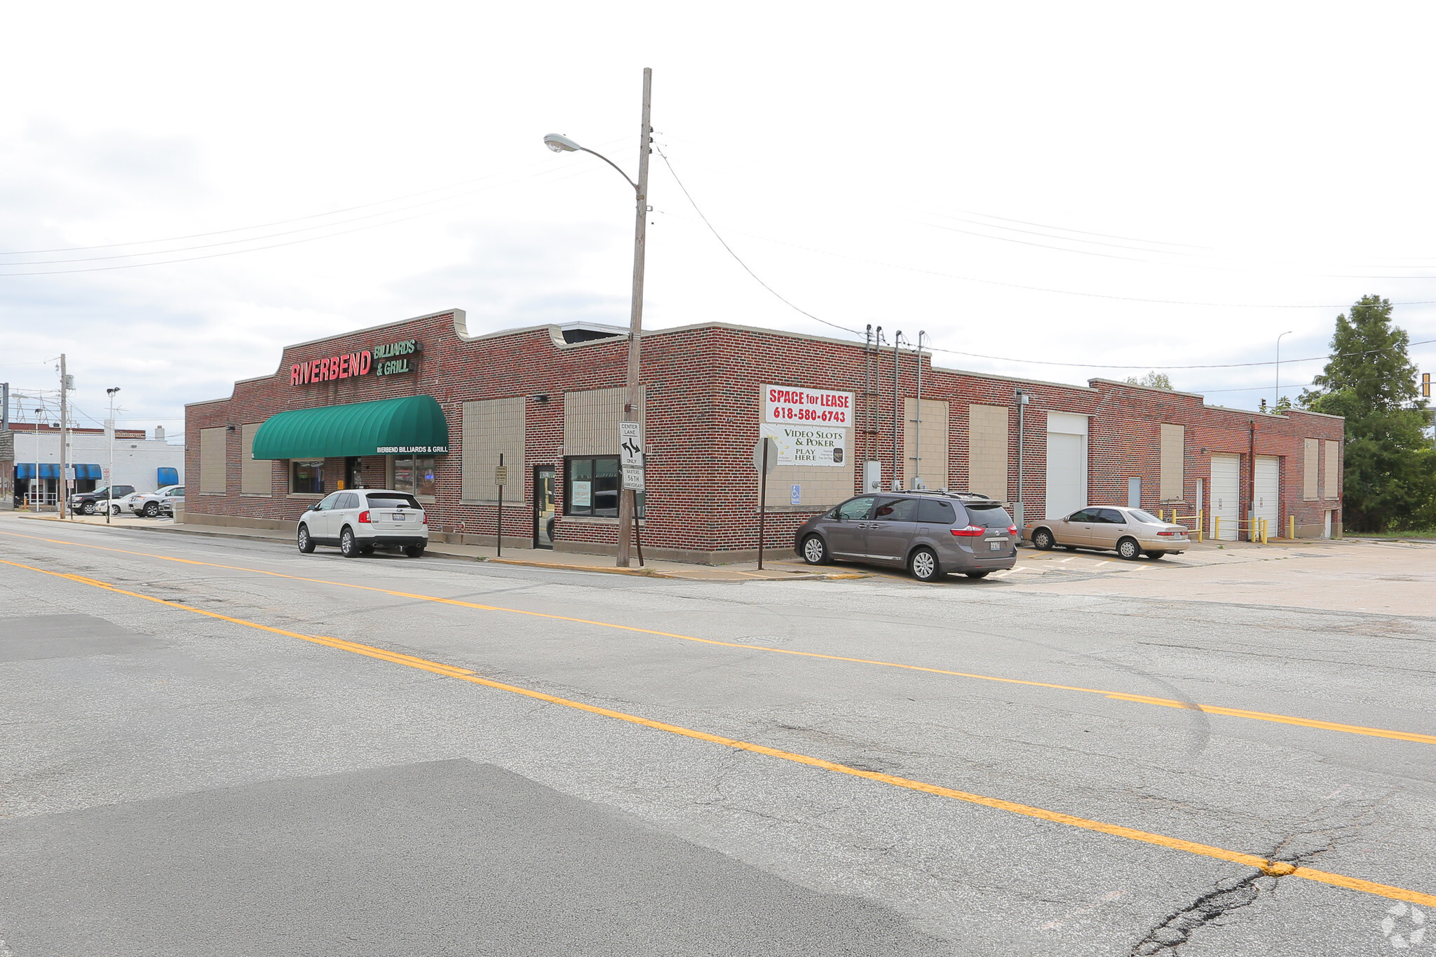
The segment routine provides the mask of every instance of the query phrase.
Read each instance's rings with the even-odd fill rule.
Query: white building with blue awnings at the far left
[[[113,482],[134,485],[138,492],[152,492],[161,485],[184,484],[184,445],[171,445],[162,429],[155,438],[145,438],[142,429],[118,429],[113,442]],[[60,429],[36,429],[32,423],[10,423],[13,459],[0,463],[7,471],[14,498],[22,499],[34,486],[53,505],[60,489]],[[105,486],[105,472],[111,468],[111,442],[103,429],[70,429],[65,461],[75,465],[73,488],[89,492]],[[36,482],[39,466],[39,482]]]

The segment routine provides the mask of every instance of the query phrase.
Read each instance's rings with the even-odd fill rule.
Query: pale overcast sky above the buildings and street
[[[1255,407],[1357,297],[1436,339],[1425,4],[27,4],[0,57],[0,380],[178,430],[280,349],[460,307],[628,321],[656,141],[834,326]],[[649,327],[850,337],[653,156]],[[182,237],[182,238],[175,238]],[[79,248],[85,247],[85,248]],[[116,268],[119,267],[119,268]],[[968,354],[962,354],[968,353]],[[991,356],[991,359],[979,357]],[[1436,344],[1417,346],[1425,369]],[[1057,364],[1073,363],[1073,364]],[[1091,363],[1090,366],[1086,363]],[[1124,367],[1107,367],[1124,366]],[[1320,362],[1284,362],[1295,396]],[[803,385],[803,383],[796,383]],[[33,403],[32,403],[33,405]]]

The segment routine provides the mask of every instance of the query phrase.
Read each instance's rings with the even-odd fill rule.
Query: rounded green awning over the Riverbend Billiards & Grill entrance
[[[448,422],[434,396],[293,409],[270,416],[254,433],[256,459],[445,452]]]

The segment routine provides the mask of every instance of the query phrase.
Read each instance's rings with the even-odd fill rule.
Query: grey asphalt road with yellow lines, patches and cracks
[[[1433,617],[9,517],[0,561],[0,957],[1436,943]]]

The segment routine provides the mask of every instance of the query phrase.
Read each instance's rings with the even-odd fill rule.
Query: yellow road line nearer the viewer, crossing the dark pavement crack
[[[83,585],[93,585],[96,588],[103,588],[106,591],[112,591],[121,595],[129,595],[132,598],[154,601],[155,604],[162,604],[169,608],[178,608],[180,611],[201,614],[205,616],[207,618],[230,621],[233,624],[241,624],[250,628],[258,628],[260,631],[269,631],[271,634],[283,634],[290,638],[299,638],[302,641],[313,641],[314,644],[323,644],[330,649],[352,651],[355,654],[363,654],[366,657],[379,659],[382,661],[389,661],[392,664],[402,664],[405,667],[421,669],[424,671],[431,671],[434,674],[439,674],[444,677],[452,677],[460,682],[470,682],[471,684],[482,684],[484,687],[497,689],[500,692],[523,694],[524,697],[547,702],[550,704],[560,704],[563,707],[572,707],[580,712],[589,712],[590,715],[602,715],[603,717],[612,717],[620,722],[629,722],[632,725],[642,725],[643,727],[652,727],[655,730],[668,732],[671,735],[679,735],[682,737],[691,737],[694,740],[722,745],[725,748],[735,748],[738,750],[747,750],[757,755],[767,755],[768,758],[790,760],[793,763],[807,765],[808,768],[819,768],[821,770],[831,770],[840,775],[852,775],[853,778],[867,778],[869,781],[877,781],[885,785],[892,785],[895,788],[906,788],[908,791],[929,793],[939,798],[964,801],[966,803],[981,805],[984,808],[994,808],[997,811],[1007,811],[1010,814],[1018,814],[1027,818],[1035,818],[1038,821],[1050,821],[1053,824],[1080,828],[1083,831],[1109,834],[1113,836],[1126,838],[1129,841],[1139,841],[1142,844],[1155,844],[1157,847],[1170,848],[1173,851],[1185,851],[1188,854],[1216,858],[1218,861],[1242,864],[1246,867],[1258,868],[1264,874],[1269,874],[1272,877],[1300,877],[1308,881],[1331,884],[1334,887],[1361,891],[1364,894],[1376,894],[1379,897],[1387,897],[1396,901],[1407,901],[1410,904],[1423,904],[1426,907],[1436,907],[1436,894],[1413,891],[1404,887],[1394,887],[1391,884],[1377,884],[1376,881],[1367,881],[1364,878],[1357,878],[1357,877],[1347,877],[1344,874],[1333,874],[1331,871],[1318,871],[1315,868],[1297,867],[1294,864],[1288,864],[1287,861],[1269,861],[1256,854],[1228,851],[1226,848],[1218,848],[1211,844],[1198,844],[1196,841],[1185,841],[1182,838],[1173,838],[1165,834],[1155,834],[1152,831],[1126,828],[1119,824],[1107,824],[1104,821],[1078,818],[1070,814],[1063,814],[1060,811],[1048,811],[1045,808],[1035,808],[1032,805],[1017,803],[1014,801],[1004,801],[1001,798],[988,798],[985,795],[976,795],[976,793],[969,793],[966,791],[956,791],[954,788],[943,788],[941,785],[931,785],[922,781],[913,781],[912,778],[899,778],[898,775],[885,775],[876,770],[863,770],[862,768],[850,768],[849,765],[839,765],[836,762],[823,760],[821,758],[813,758],[810,755],[800,755],[791,750],[780,750],[777,748],[768,748],[765,745],[755,745],[752,742],[738,740],[737,737],[709,735],[708,732],[694,730],[692,727],[684,727],[681,725],[669,725],[668,722],[653,720],[652,717],[640,717],[639,715],[629,715],[628,712],[616,712],[607,707],[587,704],[584,702],[574,702],[566,697],[559,697],[556,694],[546,694],[544,692],[536,692],[533,689],[518,687],[517,684],[504,684],[503,682],[494,682],[491,679],[481,677],[468,669],[461,669],[451,664],[439,664],[438,661],[429,661],[428,659],[415,657],[412,654],[389,651],[386,649],[378,649],[369,644],[359,644],[358,641],[345,641],[342,638],[332,638],[314,634],[300,634],[299,631],[287,631],[284,628],[276,628],[267,624],[258,624],[256,621],[248,621],[246,618],[236,618],[231,616],[218,614],[215,611],[192,608],[187,604],[180,604],[177,601],[167,601],[164,598],[141,594],[138,591],[128,591],[125,588],[119,588],[116,585],[98,581],[95,578],[86,578],[83,575],[47,571],[45,568],[34,568],[33,565],[24,565],[17,561],[6,561],[3,558],[0,558],[0,564],[11,565],[14,568],[24,568],[26,571],[36,571],[40,572],[42,575],[53,575],[56,578],[65,578],[67,581],[75,581]]]

